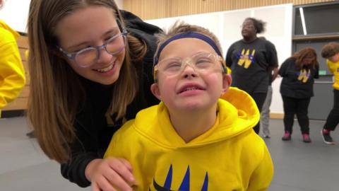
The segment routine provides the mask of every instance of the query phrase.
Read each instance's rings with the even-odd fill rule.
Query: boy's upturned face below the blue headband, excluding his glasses
[[[170,42],[162,50],[159,62],[172,57],[186,59],[201,52],[216,54],[213,47],[203,40],[182,38]],[[210,110],[216,107],[218,98],[229,86],[230,81],[225,76],[219,61],[206,70],[197,70],[186,64],[176,75],[158,72],[157,83],[153,84],[152,89],[169,112]]]

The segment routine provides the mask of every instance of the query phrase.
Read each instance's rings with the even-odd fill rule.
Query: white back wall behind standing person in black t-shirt
[[[280,64],[287,57],[290,57],[292,52],[292,4],[160,18],[146,22],[164,29],[167,29],[177,20],[201,25],[218,36],[222,44],[223,55],[225,55],[233,42],[242,39],[240,25],[246,17],[258,18],[267,23],[266,33],[261,35],[275,45]],[[273,100],[272,105],[270,105],[270,112],[283,113],[283,100],[279,92],[280,81],[281,79],[276,79],[272,84]]]

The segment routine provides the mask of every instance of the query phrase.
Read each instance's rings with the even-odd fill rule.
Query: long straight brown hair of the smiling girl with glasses
[[[68,145],[76,137],[73,122],[80,103],[85,100],[85,92],[78,74],[65,59],[56,54],[58,38],[54,29],[62,18],[87,6],[112,8],[114,16],[124,25],[117,4],[113,0],[32,0],[30,2],[28,120],[44,153],[59,163],[69,159]],[[133,47],[138,48],[134,50]],[[123,117],[126,106],[136,95],[138,81],[131,60],[140,60],[145,54],[145,48],[147,48],[145,43],[140,42],[136,37],[128,37],[124,64],[121,66],[119,79],[112,85],[114,94],[108,113],[117,113],[117,117]]]

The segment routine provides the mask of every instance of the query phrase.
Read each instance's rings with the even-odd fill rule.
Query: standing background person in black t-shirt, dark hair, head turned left
[[[242,40],[227,50],[226,64],[232,69],[232,85],[249,93],[261,111],[269,85],[269,75],[277,75],[278,57],[272,42],[257,34],[265,30],[263,21],[246,18],[242,23]],[[260,123],[254,127],[258,134]]]

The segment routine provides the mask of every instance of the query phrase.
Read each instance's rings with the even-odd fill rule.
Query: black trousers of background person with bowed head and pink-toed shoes
[[[285,132],[290,132],[292,134],[292,127],[296,114],[300,129],[302,130],[302,134],[309,134],[309,116],[307,114],[309,110],[309,101],[311,100],[311,98],[298,99],[286,96],[282,97],[285,112]]]

